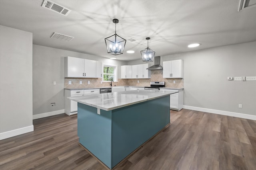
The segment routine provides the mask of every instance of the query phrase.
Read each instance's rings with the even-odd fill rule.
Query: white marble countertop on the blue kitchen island
[[[161,90],[129,90],[103,94],[68,97],[78,103],[100,108],[106,111],[130,106],[147,100],[168,96],[177,92],[162,92]]]

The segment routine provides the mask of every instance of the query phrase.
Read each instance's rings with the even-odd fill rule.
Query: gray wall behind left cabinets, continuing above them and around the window
[[[33,115],[64,109],[64,57],[78,57],[105,64],[118,65],[118,78],[121,65],[127,62],[87,55],[62,49],[33,45]],[[53,85],[56,81],[56,85]],[[50,103],[56,103],[55,107]]]

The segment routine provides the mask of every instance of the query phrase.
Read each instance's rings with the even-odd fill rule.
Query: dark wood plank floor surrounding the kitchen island
[[[116,170],[255,170],[256,121],[182,109]],[[77,116],[33,121],[34,131],[0,141],[0,170],[105,170],[78,145]]]

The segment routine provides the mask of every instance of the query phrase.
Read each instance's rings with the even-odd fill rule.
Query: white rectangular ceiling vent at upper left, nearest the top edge
[[[56,4],[55,2],[52,2],[50,0],[44,0],[43,3],[42,3],[42,7],[43,8],[46,8],[46,9],[49,9],[49,10],[52,10],[54,12],[57,12],[59,14],[62,14],[64,16],[67,16],[71,10],[64,7],[64,6],[61,6],[59,4]]]

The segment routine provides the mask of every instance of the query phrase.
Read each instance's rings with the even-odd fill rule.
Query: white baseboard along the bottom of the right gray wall
[[[203,112],[208,112],[208,113],[215,113],[215,114],[219,114],[219,115],[226,115],[226,116],[233,116],[233,117],[240,117],[240,118],[244,118],[244,119],[256,120],[256,115],[248,115],[248,114],[236,113],[236,112],[230,112],[230,111],[222,111],[222,110],[207,109],[207,108],[202,108],[202,107],[185,106],[185,105],[183,105],[183,109],[190,109],[190,110],[203,111]]]

